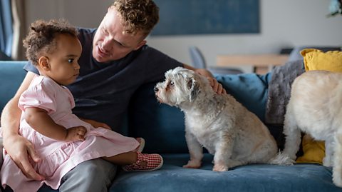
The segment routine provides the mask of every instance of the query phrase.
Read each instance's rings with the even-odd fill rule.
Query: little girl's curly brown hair
[[[49,54],[56,47],[54,39],[58,34],[70,34],[77,38],[78,31],[75,26],[66,20],[34,21],[28,29],[28,35],[23,41],[26,48],[26,58],[32,64],[38,64],[41,54]]]

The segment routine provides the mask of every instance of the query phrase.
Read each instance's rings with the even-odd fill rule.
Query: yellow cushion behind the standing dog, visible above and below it
[[[327,51],[324,53],[318,49],[303,49],[301,56],[304,58],[306,71],[326,70],[342,72],[342,52]],[[311,136],[305,135],[302,139],[304,155],[297,158],[297,163],[323,164],[325,155],[324,141],[315,141]]]

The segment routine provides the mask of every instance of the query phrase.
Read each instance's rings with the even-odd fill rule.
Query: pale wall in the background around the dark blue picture
[[[184,0],[186,1],[186,0]],[[214,1],[214,0],[212,0]],[[76,26],[96,27],[112,0],[26,0],[28,22],[64,17]],[[342,16],[327,18],[330,0],[260,0],[260,34],[149,36],[147,44],[190,64],[198,46],[209,65],[217,54],[278,53],[293,46],[342,46]],[[37,8],[43,7],[44,9]]]

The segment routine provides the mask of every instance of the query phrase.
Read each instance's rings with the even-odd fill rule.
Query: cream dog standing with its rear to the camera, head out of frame
[[[324,166],[333,166],[333,183],[342,187],[342,74],[308,71],[294,80],[286,108],[284,154],[296,159],[301,131],[326,141]]]

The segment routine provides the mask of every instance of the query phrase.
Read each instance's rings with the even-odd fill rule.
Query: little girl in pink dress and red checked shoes
[[[152,171],[162,166],[160,155],[140,153],[142,138],[139,143],[108,128],[96,128],[98,122],[86,123],[72,113],[75,103],[66,86],[79,74],[82,52],[75,27],[66,21],[36,21],[31,24],[24,46],[40,76],[19,99],[19,132],[33,143],[41,157],[41,162],[31,163],[45,180],[29,181],[4,151],[2,186],[10,186],[13,191],[38,191],[46,183],[58,189],[68,171],[99,157],[123,166],[125,171]]]

